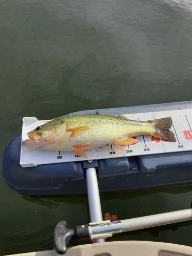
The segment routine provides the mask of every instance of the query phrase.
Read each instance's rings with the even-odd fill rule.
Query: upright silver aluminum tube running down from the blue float
[[[97,182],[97,173],[95,168],[86,169],[86,181],[88,189],[88,202],[91,222],[103,221],[101,202],[99,196],[99,187]],[[102,243],[105,239],[95,239],[94,243]]]

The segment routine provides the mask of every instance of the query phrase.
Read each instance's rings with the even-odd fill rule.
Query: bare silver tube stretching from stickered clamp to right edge
[[[156,227],[192,219],[192,209],[165,212],[133,219],[122,220],[122,232]]]

